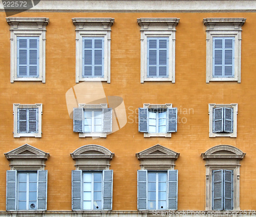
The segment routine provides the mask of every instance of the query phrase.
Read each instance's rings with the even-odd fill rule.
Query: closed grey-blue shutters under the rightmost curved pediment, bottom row
[[[233,171],[212,171],[212,210],[233,209]]]

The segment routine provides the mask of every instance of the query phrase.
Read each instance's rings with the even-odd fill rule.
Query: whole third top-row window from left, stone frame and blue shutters
[[[175,83],[175,32],[178,18],[138,18],[141,27],[140,82]]]

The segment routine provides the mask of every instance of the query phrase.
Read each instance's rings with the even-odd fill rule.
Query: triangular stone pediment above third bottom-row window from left
[[[174,170],[175,161],[180,153],[167,149],[160,144],[136,154],[141,170]]]

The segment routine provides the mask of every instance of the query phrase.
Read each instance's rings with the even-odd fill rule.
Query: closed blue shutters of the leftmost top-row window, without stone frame
[[[17,37],[17,77],[39,77],[39,37]]]

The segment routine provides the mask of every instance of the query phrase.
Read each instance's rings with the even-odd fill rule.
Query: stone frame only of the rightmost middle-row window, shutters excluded
[[[232,133],[214,133],[213,132],[213,110],[214,108],[233,108],[233,132]],[[209,137],[237,137],[237,114],[238,104],[209,104]]]

